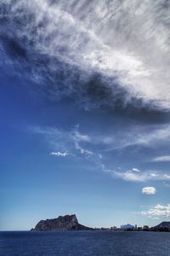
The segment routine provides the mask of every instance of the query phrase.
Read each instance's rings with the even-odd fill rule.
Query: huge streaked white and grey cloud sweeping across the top
[[[92,73],[103,75],[104,86],[111,91],[109,102],[105,99],[110,106],[114,106],[114,96],[119,95],[116,84],[118,91],[127,91],[125,105],[135,97],[152,108],[170,108],[168,3],[94,0],[73,4],[64,0],[53,4],[45,0],[2,0],[1,4],[12,4],[9,15],[4,16],[8,25],[3,32],[14,27],[15,39],[20,42],[25,39],[27,47],[34,42],[31,45],[39,57],[46,55],[50,60],[80,67],[88,74],[82,74],[81,81],[88,81]],[[27,26],[19,26],[26,15],[33,19],[29,19]],[[16,16],[17,25],[13,22]],[[35,68],[33,77],[43,78],[47,72],[51,80],[56,78],[56,61],[47,61],[46,66],[46,70],[46,67]],[[76,79],[76,75],[72,73],[66,78],[65,94],[77,92],[83,97],[84,86],[77,91],[77,83],[72,84],[69,79]],[[58,86],[55,85],[54,91],[59,94]]]

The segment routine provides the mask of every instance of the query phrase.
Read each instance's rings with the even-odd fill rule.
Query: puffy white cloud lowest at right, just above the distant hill
[[[157,204],[155,207],[150,208],[150,210],[141,212],[141,214],[148,217],[170,217],[170,204],[166,206]]]

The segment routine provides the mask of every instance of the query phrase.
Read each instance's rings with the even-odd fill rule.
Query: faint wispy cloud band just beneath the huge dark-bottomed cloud
[[[113,128],[114,129],[114,128]],[[70,130],[62,130],[54,127],[41,128],[38,126],[31,127],[32,131],[35,131],[44,136],[48,136],[51,143],[56,142],[56,138],[62,140],[65,143],[74,143],[78,150],[81,150],[80,143],[86,145],[98,145],[99,148],[103,148],[104,151],[111,151],[115,149],[123,149],[127,147],[148,147],[153,148],[155,145],[166,146],[170,143],[170,125],[129,125],[126,128],[114,129],[108,132],[95,133],[88,131],[88,134],[82,134],[79,131],[79,126],[75,126]],[[64,143],[64,145],[65,145]],[[56,143],[55,143],[56,144]],[[61,143],[60,143],[61,144]],[[65,148],[66,150],[67,148]],[[87,153],[91,154],[91,150],[86,148]],[[84,151],[85,153],[85,151]],[[162,155],[153,158],[151,161],[169,161],[169,155]],[[133,170],[135,171],[135,170]],[[136,169],[136,172],[138,170]]]

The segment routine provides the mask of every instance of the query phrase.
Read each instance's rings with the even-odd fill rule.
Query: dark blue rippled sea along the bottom
[[[0,232],[1,256],[170,255],[170,233]]]

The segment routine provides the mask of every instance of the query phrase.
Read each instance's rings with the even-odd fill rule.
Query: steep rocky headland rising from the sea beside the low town
[[[77,216],[65,215],[59,218],[41,220],[31,231],[56,231],[56,230],[93,230],[78,223]]]

